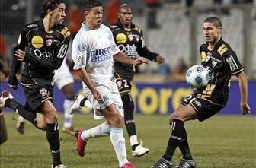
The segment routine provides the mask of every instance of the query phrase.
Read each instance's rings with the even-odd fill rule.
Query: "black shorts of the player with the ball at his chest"
[[[209,119],[211,116],[215,115],[222,109],[224,106],[213,103],[210,100],[203,100],[194,96],[186,97],[181,104],[186,106],[190,104],[197,112],[197,119],[200,122],[203,122],[206,119]]]

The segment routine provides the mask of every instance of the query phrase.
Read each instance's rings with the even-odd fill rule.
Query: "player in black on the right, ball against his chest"
[[[171,160],[176,147],[183,155],[178,167],[194,168],[196,163],[190,154],[187,132],[184,122],[198,119],[203,122],[215,115],[226,106],[229,98],[229,83],[232,75],[238,78],[241,92],[242,113],[250,113],[248,105],[248,81],[244,69],[238,61],[235,52],[222,40],[222,23],[217,17],[208,17],[203,22],[203,35],[206,43],[200,46],[202,65],[208,69],[210,81],[205,87],[194,90],[190,97],[186,97],[178,109],[170,116],[171,136],[165,154],[152,168],[171,168]]]

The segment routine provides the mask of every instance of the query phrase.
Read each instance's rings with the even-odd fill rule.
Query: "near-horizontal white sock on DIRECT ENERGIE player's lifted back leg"
[[[110,135],[110,125],[107,122],[102,123],[94,128],[82,132],[82,140],[87,141],[89,138],[107,137]]]

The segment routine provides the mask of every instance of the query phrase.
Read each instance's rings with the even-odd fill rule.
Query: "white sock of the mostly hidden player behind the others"
[[[65,120],[64,120],[64,127],[65,128],[70,128],[72,126],[72,119],[73,119],[73,115],[69,113],[69,109],[70,106],[74,103],[74,100],[68,100],[65,99],[64,103],[63,103],[63,107],[64,107],[64,116],[65,116]]]

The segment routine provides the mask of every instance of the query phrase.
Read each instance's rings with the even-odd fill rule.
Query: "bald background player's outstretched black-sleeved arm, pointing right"
[[[146,42],[145,42],[142,31],[141,31],[141,36],[137,46],[137,52],[139,56],[145,57],[146,59],[149,59],[151,61],[156,61],[158,63],[162,63],[165,61],[164,57],[162,57],[158,53],[149,51],[149,49],[146,47]]]

